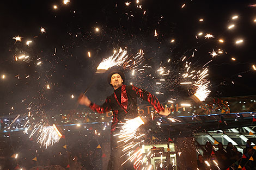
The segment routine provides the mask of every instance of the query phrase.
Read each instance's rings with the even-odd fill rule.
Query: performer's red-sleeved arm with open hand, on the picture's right
[[[136,92],[137,97],[149,102],[160,115],[168,116],[170,114],[169,108],[164,109],[159,100],[150,92],[135,86],[132,86],[132,90]]]

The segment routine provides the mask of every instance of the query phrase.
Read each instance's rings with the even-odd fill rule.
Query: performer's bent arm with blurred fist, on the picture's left
[[[107,98],[105,103],[103,103],[102,105],[97,105],[95,103],[92,103],[87,96],[84,96],[83,94],[80,95],[80,97],[78,98],[78,103],[81,105],[86,105],[88,106],[90,109],[92,109],[93,111],[98,112],[99,114],[103,114],[107,111],[111,110],[111,106],[109,104],[109,99]]]

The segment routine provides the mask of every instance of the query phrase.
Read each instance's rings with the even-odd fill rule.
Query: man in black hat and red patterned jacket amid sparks
[[[123,163],[123,158],[120,158],[122,152],[121,149],[118,148],[118,138],[114,136],[114,134],[117,134],[118,129],[120,129],[117,128],[118,123],[125,122],[125,118],[130,119],[138,116],[137,97],[148,101],[160,115],[168,116],[170,114],[170,110],[168,108],[164,109],[154,95],[135,86],[126,86],[123,84],[124,81],[125,76],[123,72],[114,70],[109,73],[108,83],[113,86],[114,93],[108,96],[105,103],[101,106],[92,103],[88,97],[84,95],[81,95],[78,99],[81,105],[89,106],[90,109],[100,114],[107,111],[113,112],[111,125],[111,155],[108,162],[108,170],[126,169],[125,166],[121,166],[121,163]],[[127,169],[131,169],[131,167]]]

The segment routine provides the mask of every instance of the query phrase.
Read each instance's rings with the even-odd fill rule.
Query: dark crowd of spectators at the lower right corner
[[[199,170],[208,169],[256,169],[256,154],[255,149],[251,146],[250,140],[246,143],[246,148],[243,153],[239,152],[231,142],[228,142],[224,149],[222,143],[218,143],[218,149],[215,150],[212,144],[208,141],[205,143],[203,155],[198,155],[197,165]]]

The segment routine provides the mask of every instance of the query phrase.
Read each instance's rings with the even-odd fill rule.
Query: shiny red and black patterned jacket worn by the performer
[[[102,105],[96,105],[95,103],[90,104],[90,109],[103,114],[107,111],[113,112],[111,131],[113,132],[115,126],[120,122],[124,121],[125,118],[135,118],[138,115],[137,111],[137,97],[149,102],[157,112],[164,110],[159,100],[151,93],[139,89],[135,86],[121,86],[121,103],[118,100],[117,94],[114,93],[108,96],[105,103]]]

